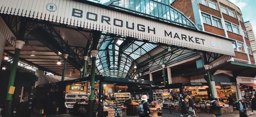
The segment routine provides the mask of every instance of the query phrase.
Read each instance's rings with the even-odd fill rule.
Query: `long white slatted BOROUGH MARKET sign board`
[[[124,13],[114,8],[109,7],[108,9],[107,6],[96,6],[90,2],[1,0],[0,13],[38,18],[208,52],[235,55],[230,40]]]

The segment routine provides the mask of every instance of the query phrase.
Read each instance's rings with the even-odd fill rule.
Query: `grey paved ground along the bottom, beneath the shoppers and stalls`
[[[162,110],[162,117],[179,117],[181,113],[173,111],[172,114],[169,113],[169,110],[163,109]],[[251,112],[250,110],[248,112],[248,117],[256,117],[256,113],[254,115],[250,115],[249,113]],[[192,114],[193,115],[193,114]],[[192,116],[191,115],[191,116]],[[31,113],[31,117],[43,117],[43,115],[39,115],[37,112]],[[55,115],[50,115],[49,117],[55,117]],[[59,114],[58,117],[78,117],[78,116],[72,116],[70,114]],[[127,116],[125,112],[123,112],[123,117],[132,117],[132,116]],[[187,117],[187,115],[184,115],[184,117]],[[197,117],[214,117],[210,113],[197,113]],[[228,114],[223,114],[222,117],[239,117],[239,112],[235,111],[233,113],[228,113]]]

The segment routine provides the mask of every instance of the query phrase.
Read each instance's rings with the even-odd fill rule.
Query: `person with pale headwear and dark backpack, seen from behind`
[[[143,95],[141,100],[139,106],[137,106],[137,113],[139,117],[149,117],[150,110],[149,105],[147,104],[147,95]]]

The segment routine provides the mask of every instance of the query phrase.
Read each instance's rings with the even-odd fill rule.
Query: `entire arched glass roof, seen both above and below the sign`
[[[169,6],[169,0],[112,0],[104,5],[197,30],[183,13]],[[96,60],[99,72],[103,76],[122,78],[133,74],[135,60],[158,46],[157,43],[138,40],[121,35],[101,35]]]

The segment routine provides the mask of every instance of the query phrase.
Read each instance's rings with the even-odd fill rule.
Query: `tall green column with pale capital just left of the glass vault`
[[[97,51],[97,45],[99,43],[99,38],[101,31],[93,30],[93,43],[91,49],[92,55],[92,69],[91,69],[91,95],[89,97],[89,117],[94,117],[94,82],[95,82],[95,68],[96,68],[96,57],[99,53]]]

